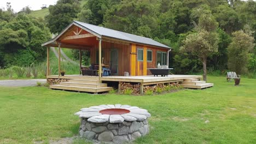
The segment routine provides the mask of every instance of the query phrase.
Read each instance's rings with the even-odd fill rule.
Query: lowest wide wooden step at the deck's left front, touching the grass
[[[91,92],[91,93],[108,92],[112,90],[112,87],[93,88],[93,87],[75,87],[75,86],[62,86],[62,85],[50,85],[50,88],[63,89],[63,90],[69,90],[69,91],[78,91],[78,92]]]

